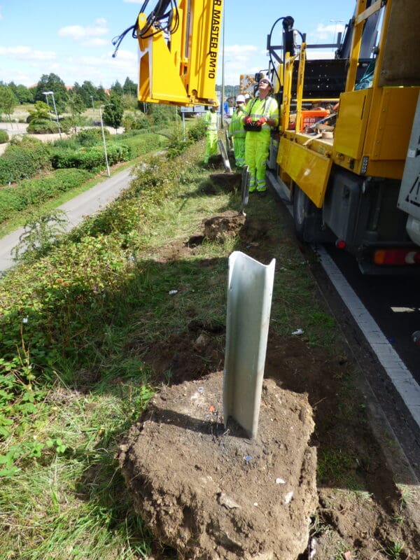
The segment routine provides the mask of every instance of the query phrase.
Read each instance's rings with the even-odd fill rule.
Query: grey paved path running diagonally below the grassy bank
[[[115,200],[121,191],[130,185],[131,172],[132,167],[128,167],[58,207],[67,214],[66,230],[71,230],[83,218],[95,214],[95,212],[103,209],[106,204]],[[0,239],[0,274],[14,265],[11,251],[18,244],[23,231],[23,228],[19,228]]]

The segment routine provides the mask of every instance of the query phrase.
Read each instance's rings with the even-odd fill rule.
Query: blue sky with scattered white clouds
[[[138,80],[137,41],[127,34],[112,58],[111,40],[134,24],[144,0],[0,0],[0,80],[33,85],[56,73],[66,85],[90,80],[110,87],[128,76]],[[151,0],[146,13],[157,3]],[[308,43],[330,43],[344,29],[356,0],[225,0],[225,84],[267,68],[267,34],[286,15]],[[281,24],[276,25],[276,43]],[[319,56],[320,51],[317,52]],[[217,83],[221,83],[219,52]]]

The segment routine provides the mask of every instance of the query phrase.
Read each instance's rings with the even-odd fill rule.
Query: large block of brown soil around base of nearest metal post
[[[295,560],[316,496],[305,395],[265,381],[258,437],[225,430],[222,374],[162,388],[120,447],[137,512],[191,560]]]

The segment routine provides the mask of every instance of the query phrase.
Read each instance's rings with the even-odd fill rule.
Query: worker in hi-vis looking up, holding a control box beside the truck
[[[273,85],[269,78],[261,78],[258,83],[258,97],[250,99],[246,104],[244,116],[241,117],[245,125],[245,165],[251,174],[249,192],[265,194],[265,167],[269,153],[271,128],[279,126],[279,106],[271,97]]]

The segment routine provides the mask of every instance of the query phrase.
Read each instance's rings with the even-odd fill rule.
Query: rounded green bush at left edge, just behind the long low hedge
[[[12,139],[0,156],[0,185],[30,179],[51,167],[50,146],[40,140],[23,137]]]

